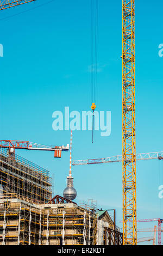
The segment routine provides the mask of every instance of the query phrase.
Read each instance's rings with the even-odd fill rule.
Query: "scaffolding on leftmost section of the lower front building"
[[[0,243],[39,244],[40,211],[33,204],[12,197],[0,199]]]

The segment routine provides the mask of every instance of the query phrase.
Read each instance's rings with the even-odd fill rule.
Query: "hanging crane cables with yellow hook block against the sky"
[[[97,89],[97,50],[98,50],[98,0],[91,0],[91,109],[92,109],[92,143],[94,131],[94,111],[96,109]]]

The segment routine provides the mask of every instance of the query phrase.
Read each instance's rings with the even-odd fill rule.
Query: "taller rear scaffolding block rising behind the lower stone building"
[[[33,203],[47,203],[52,198],[52,178],[48,170],[15,154],[9,157],[6,149],[0,149],[1,193],[16,193]]]

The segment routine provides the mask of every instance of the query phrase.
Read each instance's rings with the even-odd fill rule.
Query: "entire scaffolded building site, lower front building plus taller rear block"
[[[52,198],[47,170],[7,150],[0,154],[1,245],[121,245],[108,211]]]

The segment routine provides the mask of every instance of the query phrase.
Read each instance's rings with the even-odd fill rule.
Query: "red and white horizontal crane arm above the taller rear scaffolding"
[[[54,157],[61,157],[61,151],[68,151],[69,144],[61,147],[49,147],[40,145],[29,141],[11,141],[11,140],[0,140],[0,148],[6,148],[9,150],[9,157],[15,156],[15,149],[28,149],[28,150],[46,150],[54,151]]]

